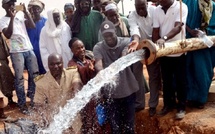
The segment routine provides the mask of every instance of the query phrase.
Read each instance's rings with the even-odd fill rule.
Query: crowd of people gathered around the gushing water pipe
[[[30,108],[43,114],[48,123],[60,106],[73,98],[96,74],[122,56],[136,51],[139,42],[155,44],[215,34],[215,3],[212,0],[135,0],[135,11],[120,14],[114,0],[74,0],[64,13],[30,0],[16,10],[16,0],[2,0],[5,16],[0,19],[0,89],[9,106],[29,115]],[[7,43],[6,43],[7,39]],[[69,128],[74,133],[135,133],[135,112],[145,109],[150,91],[149,116],[164,116],[177,109],[183,119],[186,106],[204,108],[215,66],[215,48],[167,55],[146,65],[137,62],[118,75],[115,87],[104,85]],[[8,66],[10,56],[14,74]],[[28,72],[25,94],[23,72]],[[13,90],[18,98],[13,101]],[[163,108],[157,112],[159,92]],[[26,104],[26,97],[30,104]],[[2,98],[2,97],[0,97]],[[99,124],[96,108],[105,109],[106,120]],[[0,106],[0,118],[6,118]]]

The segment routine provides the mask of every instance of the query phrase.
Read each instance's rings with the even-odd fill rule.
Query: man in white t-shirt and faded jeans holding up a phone
[[[23,11],[15,11],[15,2],[16,0],[2,0],[2,7],[5,9],[6,15],[0,19],[0,31],[7,39],[10,39],[10,57],[15,71],[18,106],[20,111],[26,114],[29,112],[26,106],[24,91],[24,68],[27,69],[29,75],[27,97],[31,99],[31,106],[33,105],[35,93],[33,79],[38,74],[37,59],[33,52],[26,28],[35,28],[35,24],[24,4],[21,4]]]

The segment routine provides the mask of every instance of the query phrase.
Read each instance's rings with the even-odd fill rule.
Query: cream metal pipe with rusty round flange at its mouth
[[[208,36],[215,43],[215,36]],[[213,44],[215,46],[215,44]],[[164,48],[158,47],[157,44],[151,40],[144,39],[139,43],[138,49],[148,49],[149,58],[141,61],[144,64],[151,64],[156,58],[167,56],[171,54],[185,53],[188,51],[195,51],[199,49],[208,48],[200,38],[190,38],[184,40],[177,40],[174,42],[166,42]]]

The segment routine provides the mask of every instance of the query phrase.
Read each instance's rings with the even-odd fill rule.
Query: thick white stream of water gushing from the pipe
[[[93,95],[97,94],[105,84],[114,85],[115,76],[131,64],[144,59],[144,55],[145,50],[138,50],[121,57],[109,67],[100,71],[96,77],[91,79],[81,89],[81,91],[76,93],[73,99],[68,100],[67,104],[54,116],[54,121],[49,125],[49,127],[45,130],[39,131],[38,133],[61,134],[63,130],[66,130],[71,125],[71,122],[74,120],[77,113],[84,108]]]

